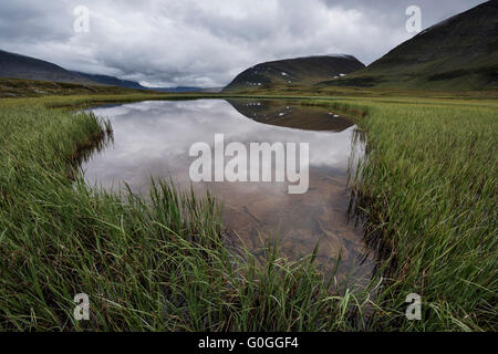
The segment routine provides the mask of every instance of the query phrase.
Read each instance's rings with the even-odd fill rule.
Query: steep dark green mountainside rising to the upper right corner
[[[452,17],[366,69],[322,85],[498,88],[498,1]]]

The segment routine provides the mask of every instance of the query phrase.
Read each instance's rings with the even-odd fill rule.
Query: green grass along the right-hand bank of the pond
[[[498,110],[363,102],[369,154],[356,178],[367,240],[387,279],[380,329],[497,329]],[[423,321],[405,321],[408,293]]]

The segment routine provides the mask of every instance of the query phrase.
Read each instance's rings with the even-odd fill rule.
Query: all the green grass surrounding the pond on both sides
[[[75,153],[105,126],[54,107],[164,97],[0,101],[1,330],[496,330],[495,102],[299,97],[367,133],[354,190],[384,266],[374,303],[325,282],[311,258],[271,251],[260,264],[229,250],[208,196],[158,183],[145,202],[71,184]],[[89,322],[72,315],[80,292]],[[422,296],[422,321],[404,316],[408,293]]]

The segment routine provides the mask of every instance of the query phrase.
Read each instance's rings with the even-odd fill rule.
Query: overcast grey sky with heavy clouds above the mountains
[[[221,86],[259,62],[345,53],[370,64],[484,0],[0,0],[0,49],[143,84]],[[90,11],[74,31],[74,9]]]

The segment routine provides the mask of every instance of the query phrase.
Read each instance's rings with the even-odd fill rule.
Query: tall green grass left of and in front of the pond
[[[230,250],[208,195],[158,181],[148,198],[115,196],[72,183],[77,152],[105,135],[97,117],[19,101],[3,104],[0,123],[0,330],[366,326],[367,293],[329,282],[312,256],[289,262],[271,248],[261,263]],[[73,317],[81,292],[90,321]]]

